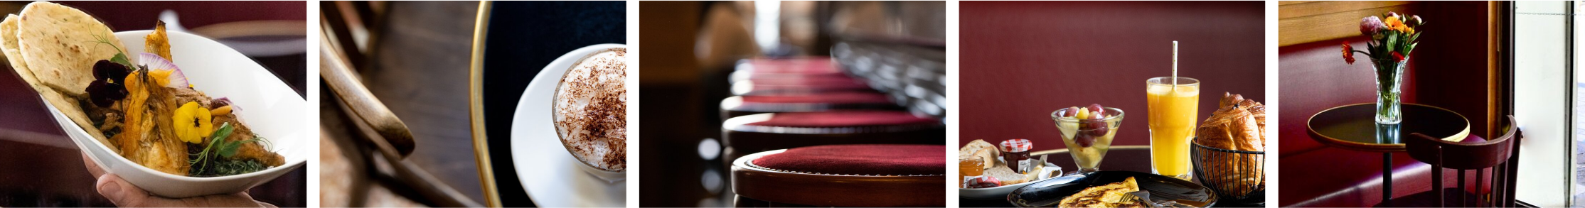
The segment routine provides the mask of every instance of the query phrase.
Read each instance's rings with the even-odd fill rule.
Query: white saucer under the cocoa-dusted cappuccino
[[[550,97],[561,75],[577,59],[607,48],[628,44],[594,44],[574,49],[539,70],[523,91],[512,113],[512,167],[534,205],[544,208],[628,206],[628,181],[607,183],[579,168],[577,159],[561,146],[550,124]]]

